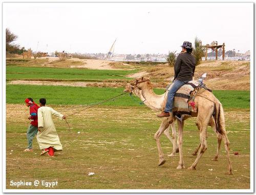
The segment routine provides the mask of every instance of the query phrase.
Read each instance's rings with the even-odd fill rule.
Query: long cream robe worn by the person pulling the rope
[[[56,132],[52,115],[62,120],[63,115],[48,106],[41,106],[37,111],[38,127],[41,132],[37,133],[36,139],[40,149],[53,147],[54,150],[62,150],[59,136]]]

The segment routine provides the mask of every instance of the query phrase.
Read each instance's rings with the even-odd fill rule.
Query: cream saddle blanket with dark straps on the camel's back
[[[190,93],[194,91],[199,85],[197,80],[188,81],[186,84],[181,86],[181,88],[176,92],[174,97],[173,112],[179,112],[181,114],[189,114],[190,112],[196,112],[193,107],[188,106],[188,99]],[[168,91],[172,88],[173,83],[169,86]]]

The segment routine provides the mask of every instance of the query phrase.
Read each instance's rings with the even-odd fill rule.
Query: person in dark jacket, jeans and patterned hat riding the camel
[[[158,117],[169,117],[170,113],[173,111],[173,102],[175,93],[181,88],[182,85],[186,84],[188,81],[193,80],[196,59],[191,54],[192,44],[191,42],[184,41],[182,47],[182,52],[178,55],[176,62],[174,64],[174,83],[172,88],[168,91],[167,102],[165,109]]]

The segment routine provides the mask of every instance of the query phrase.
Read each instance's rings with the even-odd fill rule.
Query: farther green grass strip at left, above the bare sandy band
[[[34,80],[81,80],[101,81],[105,79],[131,79],[126,75],[136,73],[136,70],[91,70],[70,68],[46,68],[46,67],[6,67],[6,79],[34,79]]]

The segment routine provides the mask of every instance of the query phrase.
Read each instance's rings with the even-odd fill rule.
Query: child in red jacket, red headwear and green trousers
[[[37,110],[39,106],[33,101],[32,98],[25,99],[25,103],[29,107],[30,116],[28,119],[31,120],[31,122],[27,131],[28,147],[24,151],[33,151],[32,143],[38,129]]]

